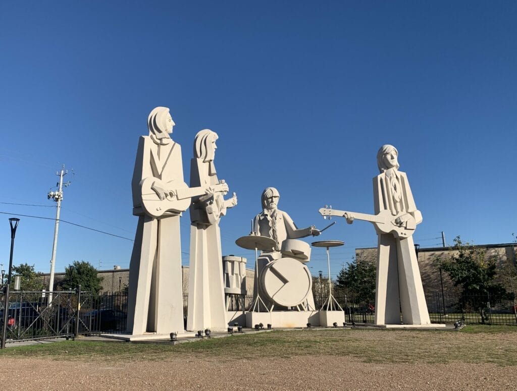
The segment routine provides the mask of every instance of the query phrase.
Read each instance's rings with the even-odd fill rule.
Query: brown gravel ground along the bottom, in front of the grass
[[[274,359],[164,357],[159,362],[0,359],[0,382],[25,390],[459,390],[517,389],[512,367],[373,364],[343,356]]]

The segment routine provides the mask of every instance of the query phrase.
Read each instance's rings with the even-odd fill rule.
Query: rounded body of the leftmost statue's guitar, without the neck
[[[142,188],[142,206],[146,213],[153,217],[161,217],[165,212],[171,212],[174,214],[180,214],[185,212],[190,206],[190,198],[177,199],[175,196],[169,194],[165,199],[161,200],[158,194],[151,189],[151,186],[156,181],[160,181],[157,178],[149,177],[145,178],[141,182]],[[170,189],[176,192],[176,190],[188,190],[189,186],[180,180],[172,180],[164,183],[166,189]]]

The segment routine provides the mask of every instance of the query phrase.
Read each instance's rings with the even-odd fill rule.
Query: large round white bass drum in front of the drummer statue
[[[312,294],[312,277],[307,266],[294,258],[269,262],[261,273],[262,291],[275,305],[293,307]]]

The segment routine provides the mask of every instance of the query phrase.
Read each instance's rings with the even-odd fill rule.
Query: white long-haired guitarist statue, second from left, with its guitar
[[[194,140],[190,185],[213,187],[224,183],[217,178],[214,158],[217,133],[204,129]],[[226,330],[221,233],[219,219],[226,209],[237,205],[237,196],[223,198],[212,192],[194,197],[190,206],[190,269],[187,330]]]

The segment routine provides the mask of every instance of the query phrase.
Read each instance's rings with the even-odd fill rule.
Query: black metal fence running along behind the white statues
[[[52,299],[50,299],[52,297]],[[353,296],[334,296],[345,311],[348,323],[373,323],[373,303],[358,301]],[[92,334],[126,333],[127,293],[101,295],[92,292],[11,292],[6,342]],[[252,295],[227,295],[230,311],[247,311]],[[326,295],[315,295],[316,309],[322,307]],[[517,325],[517,307],[513,300],[487,296],[426,296],[432,323]],[[4,295],[0,292],[0,327],[3,325]],[[188,294],[183,295],[184,321],[188,314]]]

